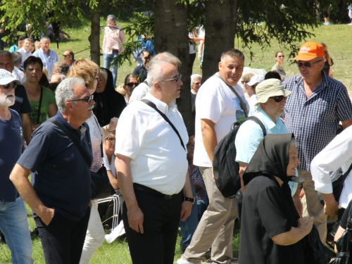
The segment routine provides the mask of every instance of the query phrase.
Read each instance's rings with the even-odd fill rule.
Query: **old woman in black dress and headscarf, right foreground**
[[[239,263],[304,264],[303,237],[313,218],[299,218],[288,180],[298,151],[293,134],[268,134],[244,172]]]

